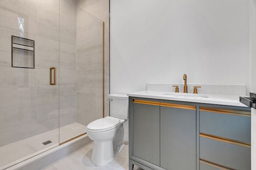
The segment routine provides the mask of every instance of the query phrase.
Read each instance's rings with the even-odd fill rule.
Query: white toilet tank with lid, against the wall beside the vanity
[[[110,116],[119,119],[128,119],[128,96],[126,94],[109,94]]]

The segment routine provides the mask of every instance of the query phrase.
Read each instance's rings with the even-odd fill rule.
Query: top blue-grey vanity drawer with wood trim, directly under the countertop
[[[250,145],[250,112],[200,107],[201,133]]]

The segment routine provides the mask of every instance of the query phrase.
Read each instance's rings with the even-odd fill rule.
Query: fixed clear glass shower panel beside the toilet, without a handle
[[[60,4],[60,145],[103,117],[104,23],[73,4],[65,16],[66,7]]]

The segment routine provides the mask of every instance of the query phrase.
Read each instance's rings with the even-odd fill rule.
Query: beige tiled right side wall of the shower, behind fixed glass
[[[88,123],[102,117],[103,22],[77,8],[77,120]]]

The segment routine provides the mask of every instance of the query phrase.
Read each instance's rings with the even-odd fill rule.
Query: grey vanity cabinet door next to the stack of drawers
[[[160,166],[196,170],[196,107],[160,106]]]

